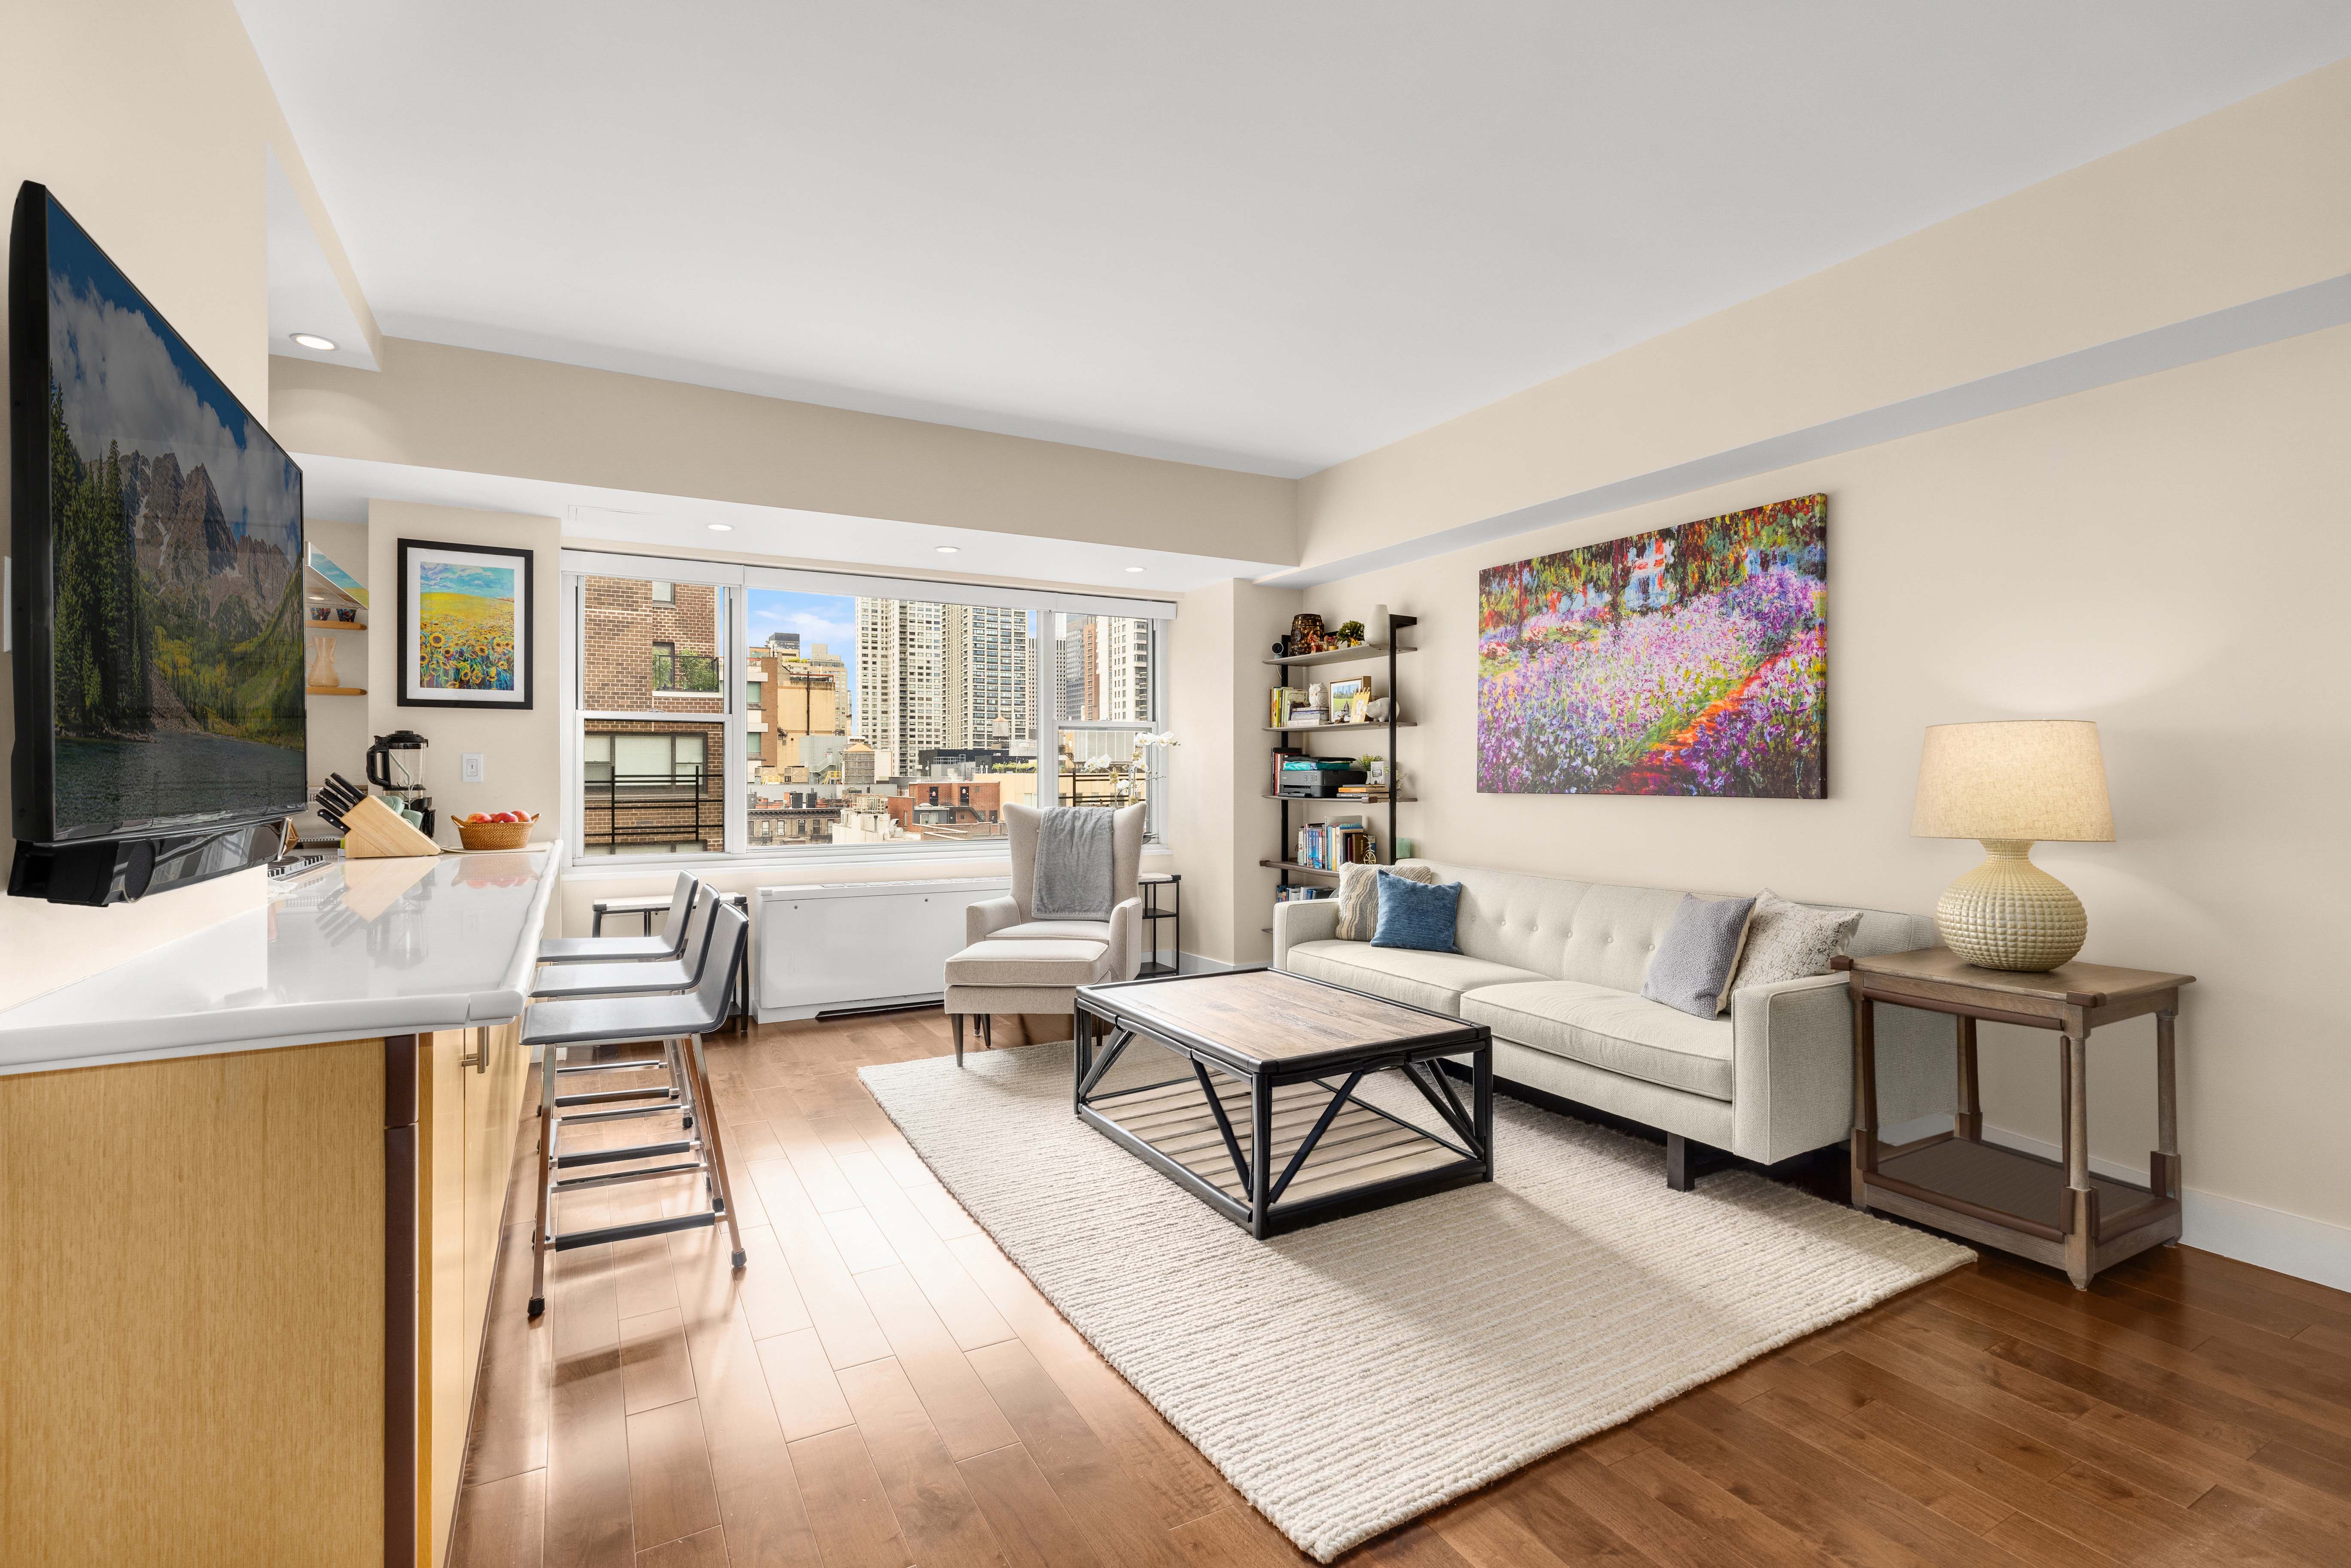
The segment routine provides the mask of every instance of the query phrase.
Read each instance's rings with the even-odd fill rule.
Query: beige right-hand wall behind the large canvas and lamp
[[[1406,832],[1472,865],[1930,912],[1977,860],[1909,837],[1925,724],[2097,719],[2116,844],[2036,858],[2085,959],[2198,976],[2186,1185],[2351,1225],[2335,1001],[2351,886],[2351,327],[1587,520],[1305,595],[1420,616]],[[1827,802],[1479,795],[1476,571],[1829,494]],[[1187,611],[1190,614],[1190,611]],[[1253,856],[1251,856],[1253,860]],[[2045,1037],[1991,1030],[1987,1119],[2055,1140]],[[2151,1023],[2092,1041],[2092,1150],[2144,1168]]]

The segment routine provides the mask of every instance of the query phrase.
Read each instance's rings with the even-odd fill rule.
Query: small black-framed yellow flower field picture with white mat
[[[400,541],[402,708],[531,705],[531,552]]]

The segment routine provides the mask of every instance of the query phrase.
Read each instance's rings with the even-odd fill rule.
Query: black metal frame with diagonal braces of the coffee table
[[[1253,964],[1246,969],[1270,969],[1267,964]],[[1241,973],[1241,971],[1220,971]],[[1441,1013],[1427,1013],[1432,1023],[1451,1023],[1453,1027],[1432,1030],[1429,1034],[1408,1034],[1401,1039],[1380,1041],[1375,1046],[1349,1046],[1342,1051],[1321,1051],[1317,1056],[1293,1056],[1281,1060],[1260,1063],[1232,1046],[1218,1044],[1190,1030],[1180,1030],[1159,1018],[1145,1018],[1133,1009],[1119,1006],[1119,992],[1128,992],[1143,985],[1168,985],[1176,980],[1197,980],[1199,976],[1152,976],[1145,980],[1114,980],[1107,985],[1081,985],[1077,987],[1077,1056],[1070,1079],[1070,1105],[1079,1121],[1091,1124],[1098,1133],[1124,1147],[1128,1154],[1152,1166],[1171,1182],[1204,1201],[1215,1213],[1225,1215],[1234,1225],[1248,1229],[1251,1237],[1265,1241],[1267,1237],[1279,1237],[1305,1225],[1321,1225],[1326,1220],[1340,1220],[1352,1213],[1364,1213],[1371,1208],[1385,1208],[1389,1204],[1406,1204],[1411,1199],[1429,1197],[1436,1192],[1451,1192],[1453,1187],[1469,1187],[1476,1182],[1493,1180],[1493,1032],[1483,1025],[1448,1020]],[[1347,985],[1331,985],[1328,980],[1312,980],[1312,985],[1324,985],[1335,992],[1347,992],[1354,997],[1366,997],[1371,1001],[1382,1001],[1387,1006],[1408,1006],[1404,1001],[1392,1001],[1389,997],[1373,997],[1371,992],[1359,992]],[[1420,1011],[1420,1009],[1408,1009]],[[1100,1039],[1100,1056],[1096,1056],[1096,1030],[1105,1027]],[[1251,1194],[1248,1204],[1241,1204],[1215,1187],[1213,1182],[1199,1178],[1178,1159],[1159,1152],[1136,1133],[1096,1110],[1096,1103],[1119,1100],[1133,1093],[1145,1093],[1150,1088],[1166,1088],[1168,1084],[1180,1084],[1183,1077],[1161,1079],[1157,1084],[1136,1084],[1117,1088],[1112,1093],[1096,1093],[1103,1074],[1117,1065],[1119,1056],[1136,1039],[1150,1039],[1168,1051],[1183,1056],[1192,1063],[1192,1077],[1199,1081],[1201,1095],[1208,1100],[1208,1112],[1215,1117],[1218,1133],[1225,1140],[1225,1154],[1232,1159],[1234,1175],[1241,1178],[1241,1187]],[[1439,1058],[1469,1056],[1469,1107],[1462,1107],[1460,1095],[1453,1093],[1453,1081],[1446,1072],[1434,1067]],[[1239,1135],[1232,1131],[1232,1117],[1225,1112],[1223,1098],[1215,1093],[1215,1084],[1208,1079],[1208,1070],[1215,1067],[1225,1077],[1241,1079],[1248,1086],[1248,1150],[1272,1150],[1274,1135],[1274,1088],[1286,1084],[1317,1084],[1331,1091],[1331,1103],[1324,1105],[1321,1117],[1307,1131],[1305,1140],[1291,1152],[1288,1164],[1277,1173],[1272,1161],[1253,1161],[1241,1154]],[[1420,1098],[1429,1103],[1439,1121],[1451,1133],[1434,1133],[1425,1126],[1406,1121],[1394,1112],[1380,1110],[1354,1098],[1357,1084],[1361,1084],[1373,1072],[1401,1070],[1406,1081],[1420,1091]],[[1345,1077],[1342,1077],[1345,1074]],[[1340,1079],[1340,1081],[1331,1081]],[[1439,1166],[1434,1171],[1413,1171],[1411,1175],[1392,1175],[1387,1180],[1366,1182],[1361,1187],[1347,1187],[1345,1192],[1331,1192],[1314,1199],[1300,1199],[1293,1204],[1281,1204],[1281,1194],[1288,1190],[1291,1180],[1305,1168],[1307,1157],[1314,1154],[1314,1145],[1338,1119],[1340,1110],[1357,1105],[1373,1112],[1375,1117],[1387,1117],[1396,1126],[1411,1128],[1432,1143],[1460,1154],[1458,1161]]]

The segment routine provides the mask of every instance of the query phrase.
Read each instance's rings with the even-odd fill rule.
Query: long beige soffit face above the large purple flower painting
[[[1326,468],[1300,482],[1295,559],[1347,559],[2346,270],[2339,61]]]

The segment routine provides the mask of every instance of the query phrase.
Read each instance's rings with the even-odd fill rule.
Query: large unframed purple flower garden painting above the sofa
[[[1829,498],[1479,574],[1476,788],[1829,792]]]

